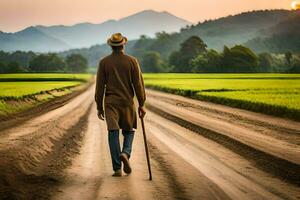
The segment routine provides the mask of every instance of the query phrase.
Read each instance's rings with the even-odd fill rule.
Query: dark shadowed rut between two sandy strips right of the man
[[[291,163],[287,160],[275,157],[266,152],[255,149],[251,146],[248,146],[242,142],[239,142],[231,137],[222,135],[218,132],[215,132],[211,129],[206,129],[197,124],[189,122],[185,119],[174,116],[170,113],[164,112],[160,108],[157,108],[153,105],[147,105],[147,108],[152,112],[173,121],[180,126],[187,128],[195,133],[200,134],[203,137],[211,139],[226,148],[232,150],[233,152],[245,157],[246,159],[253,162],[258,168],[264,170],[265,172],[272,173],[275,176],[280,177],[284,181],[300,185],[300,166]]]

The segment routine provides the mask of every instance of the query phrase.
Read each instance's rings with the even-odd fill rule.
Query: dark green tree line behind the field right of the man
[[[141,61],[144,72],[192,72],[192,73],[254,73],[254,72],[300,72],[300,54],[255,54],[250,48],[236,45],[224,46],[222,52],[208,49],[198,36],[191,36],[177,51],[164,59],[158,51],[143,51],[147,45],[142,36],[136,42],[135,55]]]

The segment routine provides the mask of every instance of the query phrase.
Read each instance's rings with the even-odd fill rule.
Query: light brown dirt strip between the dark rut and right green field
[[[300,123],[226,106],[148,91],[148,104],[163,108],[270,154],[300,164]]]

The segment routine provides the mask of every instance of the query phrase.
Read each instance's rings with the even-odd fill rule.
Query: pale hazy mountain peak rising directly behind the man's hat
[[[103,44],[116,32],[128,39],[137,39],[140,35],[153,37],[156,32],[174,32],[190,24],[168,12],[145,10],[120,20],[109,20],[101,24],[82,23],[74,26],[52,26],[37,28],[42,32],[59,38],[74,48]]]

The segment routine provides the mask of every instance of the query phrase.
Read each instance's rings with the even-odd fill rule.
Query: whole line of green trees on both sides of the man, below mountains
[[[175,48],[175,44],[172,43],[173,39],[164,32],[157,33],[156,39],[141,36],[139,40],[134,41],[126,49],[129,54],[138,57],[144,72],[300,72],[300,54],[289,50],[281,54],[268,52],[256,54],[246,46],[236,45],[233,47],[224,46],[223,51],[216,51],[209,49],[207,44],[198,36],[187,38]],[[104,55],[98,55],[97,60],[101,56]],[[54,53],[36,54],[22,51],[7,53],[0,51],[0,73],[78,73],[86,72],[87,66],[87,59],[79,52],[72,52],[63,56]]]

